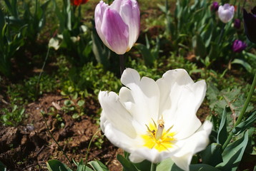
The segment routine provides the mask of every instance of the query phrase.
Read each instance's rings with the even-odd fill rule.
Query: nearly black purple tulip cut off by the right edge
[[[256,43],[256,6],[252,9],[252,14],[247,13],[245,9],[243,9],[243,14],[245,34],[250,41]]]

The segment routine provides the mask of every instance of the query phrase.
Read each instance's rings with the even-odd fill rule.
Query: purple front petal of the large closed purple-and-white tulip
[[[112,9],[104,12],[101,31],[109,44],[108,48],[117,54],[124,54],[129,43],[129,27],[119,13]]]

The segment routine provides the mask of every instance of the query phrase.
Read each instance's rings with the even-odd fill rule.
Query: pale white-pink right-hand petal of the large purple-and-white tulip
[[[120,9],[120,15],[124,23],[129,26],[129,47],[127,49],[129,51],[139,37],[140,16],[137,1],[124,1]]]

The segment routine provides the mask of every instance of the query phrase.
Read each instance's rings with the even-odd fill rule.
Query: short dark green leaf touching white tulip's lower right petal
[[[202,157],[202,163],[215,166],[222,162],[222,145],[212,143],[205,150],[200,153]]]

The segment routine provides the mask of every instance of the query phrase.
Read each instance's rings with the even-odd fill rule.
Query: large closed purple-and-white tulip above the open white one
[[[129,51],[139,37],[139,5],[136,0],[100,1],[95,9],[95,27],[103,43],[117,54]]]

